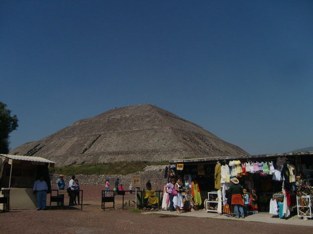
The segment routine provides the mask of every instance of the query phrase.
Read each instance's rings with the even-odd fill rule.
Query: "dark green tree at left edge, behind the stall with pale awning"
[[[11,111],[6,108],[6,104],[0,101],[0,153],[9,152],[9,134],[17,129],[18,119],[16,115],[11,116]]]

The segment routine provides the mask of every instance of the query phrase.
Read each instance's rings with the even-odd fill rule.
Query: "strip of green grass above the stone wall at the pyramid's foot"
[[[144,167],[151,165],[169,165],[168,161],[162,162],[116,162],[106,164],[78,164],[69,166],[55,166],[56,174],[75,175],[75,174],[131,174],[137,171],[142,171]]]

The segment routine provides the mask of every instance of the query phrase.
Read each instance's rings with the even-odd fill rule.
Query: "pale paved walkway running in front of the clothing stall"
[[[272,224],[284,224],[284,225],[300,225],[300,226],[312,226],[313,227],[313,220],[303,220],[299,219],[298,215],[291,216],[289,219],[280,219],[280,218],[272,218],[272,215],[267,212],[260,212],[258,214],[249,215],[246,218],[236,219],[234,217],[227,217],[224,214],[220,215],[214,212],[203,212],[202,210],[198,211],[190,211],[190,212],[183,212],[181,214],[170,211],[155,211],[155,212],[145,212],[142,214],[151,214],[157,213],[162,215],[177,215],[177,216],[187,216],[187,217],[198,217],[198,218],[211,218],[211,219],[227,219],[227,220],[234,220],[238,222],[261,222],[261,223],[272,223]]]

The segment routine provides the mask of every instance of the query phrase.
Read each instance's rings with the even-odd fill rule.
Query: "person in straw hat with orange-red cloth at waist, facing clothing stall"
[[[241,215],[241,218],[244,218],[244,212],[243,212],[243,191],[242,186],[239,184],[239,180],[236,177],[233,177],[230,179],[231,185],[228,189],[228,194],[231,196],[231,204],[234,206],[235,211],[235,218],[240,218],[239,212]]]

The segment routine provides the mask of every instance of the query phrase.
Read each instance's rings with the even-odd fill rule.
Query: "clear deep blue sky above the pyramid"
[[[250,154],[313,146],[313,1],[0,1],[10,148],[150,103]]]

